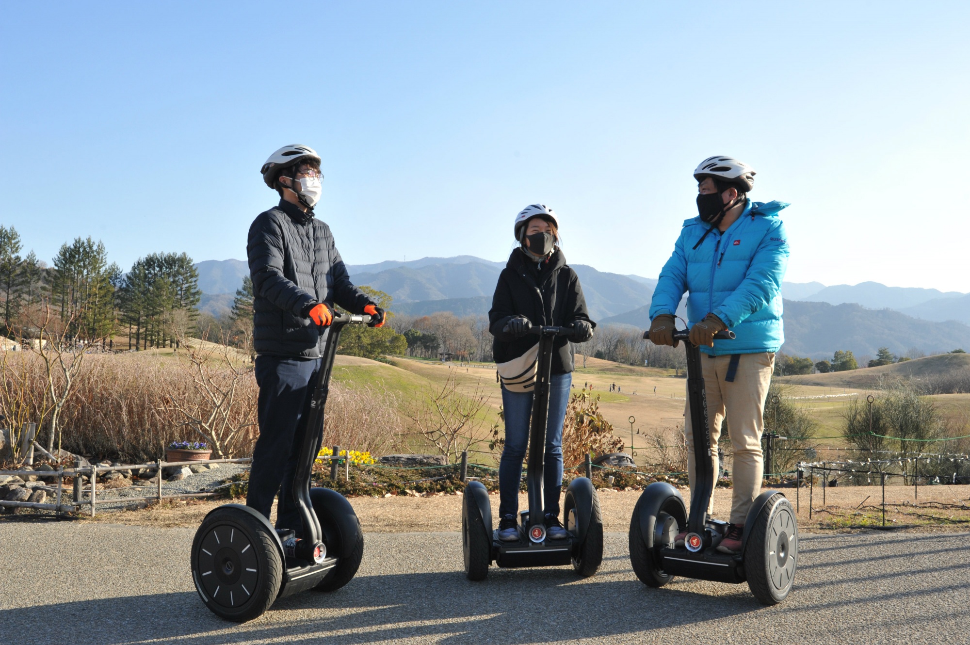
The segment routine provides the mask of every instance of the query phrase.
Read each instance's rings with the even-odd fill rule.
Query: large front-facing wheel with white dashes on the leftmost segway
[[[210,513],[199,527],[191,566],[195,589],[210,611],[237,623],[270,608],[283,576],[275,535],[233,508]]]

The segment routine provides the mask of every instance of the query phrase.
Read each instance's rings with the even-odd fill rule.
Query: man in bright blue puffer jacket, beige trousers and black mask
[[[782,279],[789,245],[778,211],[784,202],[752,202],[747,193],[755,171],[727,156],[704,159],[694,172],[699,216],[684,222],[680,238],[654,290],[650,304],[650,339],[676,346],[674,313],[686,291],[691,342],[703,359],[712,461],[718,471],[717,442],[725,416],[734,453],[734,492],[730,527],[718,545],[739,553],[745,517],[758,497],[763,474],[761,432],[764,399],[771,382],[782,331]],[[725,329],[733,340],[714,340]],[[694,441],[691,407],[685,412],[688,470],[694,490]],[[708,513],[713,512],[711,499]],[[682,532],[677,544],[683,543]]]

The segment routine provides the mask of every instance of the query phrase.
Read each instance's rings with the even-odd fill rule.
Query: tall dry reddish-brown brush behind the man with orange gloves
[[[30,352],[4,352],[0,368],[0,413],[19,423],[38,422],[44,411],[43,361]],[[178,401],[205,412],[218,403],[218,398],[203,394],[196,382],[199,372],[192,369],[190,361],[151,352],[85,357],[61,413],[64,449],[98,459],[142,463],[158,459],[172,441],[207,440],[173,405]],[[223,446],[223,453],[245,457],[252,454],[258,435],[254,425],[258,388],[251,367],[236,370],[239,373],[225,365],[220,368],[217,362],[205,368],[209,386],[225,387],[237,379],[229,416],[230,425],[240,432]],[[395,409],[393,397],[386,393],[331,383],[325,444],[360,450],[391,444],[402,432]],[[39,429],[39,434],[46,432],[47,427]]]

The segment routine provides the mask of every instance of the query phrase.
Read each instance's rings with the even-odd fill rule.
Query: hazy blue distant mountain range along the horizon
[[[347,265],[356,284],[390,294],[394,309],[405,315],[452,311],[456,315],[485,314],[504,262],[471,255],[419,260],[388,260]],[[599,324],[645,329],[656,278],[600,272],[570,265],[579,275],[590,313]],[[215,315],[232,306],[248,267],[242,260],[208,260],[196,265],[203,301],[200,308]],[[825,286],[821,282],[784,282],[785,337],[782,351],[813,358],[851,349],[857,356],[875,355],[887,346],[896,354],[918,347],[923,351],[970,350],[970,294],[879,282]],[[684,315],[683,303],[678,313]],[[963,324],[940,325],[943,321]],[[927,322],[929,321],[929,322]]]

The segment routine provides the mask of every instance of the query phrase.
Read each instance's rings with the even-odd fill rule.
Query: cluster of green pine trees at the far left
[[[123,273],[90,237],[61,244],[51,265],[22,251],[16,228],[0,225],[4,336],[32,338],[49,314],[67,338],[113,345],[127,332],[129,347],[145,349],[172,345],[198,316],[199,274],[185,253],[152,253]]]

